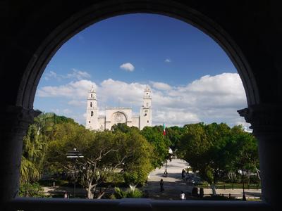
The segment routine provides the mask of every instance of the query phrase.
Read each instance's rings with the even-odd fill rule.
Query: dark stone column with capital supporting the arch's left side
[[[6,203],[18,195],[20,158],[23,136],[28,125],[39,111],[20,106],[8,106],[1,110],[0,117],[0,202]]]

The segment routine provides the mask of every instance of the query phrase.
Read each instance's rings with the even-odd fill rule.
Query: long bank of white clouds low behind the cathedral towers
[[[82,110],[81,119],[85,118],[83,113],[86,109],[87,91],[92,84],[94,83],[90,80],[82,79],[63,86],[42,87],[37,91],[37,95],[61,97],[68,105],[78,106]],[[162,82],[151,82],[151,84],[153,124],[226,122],[231,126],[246,125],[243,117],[240,117],[236,111],[247,106],[245,91],[238,74],[206,75],[190,84],[178,87],[171,87]],[[133,112],[139,113],[146,84],[106,79],[100,84],[94,84],[94,87],[101,114],[104,114],[106,106],[118,106],[118,103],[119,106],[132,106]],[[85,120],[80,123],[85,124]]]

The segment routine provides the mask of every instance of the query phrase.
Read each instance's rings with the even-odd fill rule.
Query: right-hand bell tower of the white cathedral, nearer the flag
[[[140,129],[152,126],[152,97],[149,86],[144,90],[143,106],[140,108]]]

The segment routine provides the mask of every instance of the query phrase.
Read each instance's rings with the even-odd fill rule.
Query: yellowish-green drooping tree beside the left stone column
[[[20,165],[20,196],[41,196],[39,184],[36,183],[44,172],[47,145],[54,136],[55,125],[61,122],[73,122],[70,118],[54,113],[42,113],[35,117],[23,138],[23,153]]]

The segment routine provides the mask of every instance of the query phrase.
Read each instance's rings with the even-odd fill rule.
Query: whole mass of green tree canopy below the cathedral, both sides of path
[[[66,158],[73,148],[84,158]],[[232,179],[239,170],[259,176],[257,140],[241,126],[200,122],[168,127],[164,136],[161,125],[140,131],[115,124],[110,131],[99,132],[85,129],[71,118],[42,113],[23,139],[20,183],[25,186],[21,193],[33,194],[28,188],[38,187],[35,182],[44,172],[65,172],[73,177],[76,166],[78,182],[87,190],[87,197],[101,198],[104,192],[96,191],[100,184],[145,184],[149,172],[168,160],[168,148],[209,184],[226,175]]]

